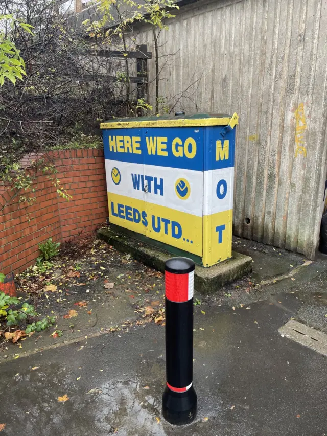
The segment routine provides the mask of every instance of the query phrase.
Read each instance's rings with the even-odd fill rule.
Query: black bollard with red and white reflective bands
[[[169,259],[166,281],[166,388],[162,414],[174,425],[189,424],[196,415],[193,387],[193,260]]]

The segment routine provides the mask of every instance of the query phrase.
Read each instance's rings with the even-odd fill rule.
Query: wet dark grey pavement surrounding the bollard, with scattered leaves
[[[2,363],[3,434],[324,436],[326,358],[278,333],[300,307],[287,293],[250,309],[195,307],[198,415],[187,427],[161,417],[165,328],[150,323]]]

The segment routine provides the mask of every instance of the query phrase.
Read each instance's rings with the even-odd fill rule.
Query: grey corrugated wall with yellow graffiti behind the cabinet
[[[151,31],[139,41],[153,46]],[[326,176],[327,2],[198,2],[177,12],[160,44],[169,110],[240,116],[234,233],[313,258]],[[154,104],[153,84],[150,93]]]

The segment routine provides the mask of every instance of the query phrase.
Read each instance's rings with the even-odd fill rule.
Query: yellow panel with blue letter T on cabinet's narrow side
[[[231,258],[232,209],[203,217],[203,265]]]

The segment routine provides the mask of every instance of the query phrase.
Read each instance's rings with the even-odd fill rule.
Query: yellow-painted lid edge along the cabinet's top
[[[230,122],[234,125],[234,116],[224,118],[200,118],[200,119],[179,119],[179,120],[148,120],[148,121],[118,121],[112,123],[101,123],[101,129],[122,129],[132,127],[200,127],[200,126],[226,126]]]

